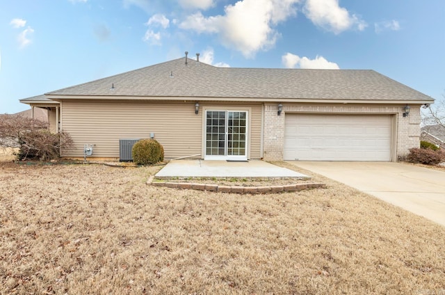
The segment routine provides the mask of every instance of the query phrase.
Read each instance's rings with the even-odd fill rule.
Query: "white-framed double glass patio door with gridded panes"
[[[247,111],[206,111],[204,159],[248,159]]]

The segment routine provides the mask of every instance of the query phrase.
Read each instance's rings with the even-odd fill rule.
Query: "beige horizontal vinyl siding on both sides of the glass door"
[[[261,104],[254,109],[261,116]],[[92,157],[118,158],[119,139],[149,138],[150,133],[163,145],[166,159],[202,150],[202,109],[195,115],[195,101],[64,100],[61,118],[63,130],[74,141],[74,150],[63,152],[64,157],[83,157],[83,145],[93,144]],[[253,124],[258,130],[252,132],[251,141],[257,146],[252,144],[251,152],[259,158],[261,118],[252,115]]]

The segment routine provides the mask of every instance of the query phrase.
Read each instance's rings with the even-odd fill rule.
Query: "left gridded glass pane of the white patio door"
[[[207,111],[206,155],[225,156],[226,111]]]

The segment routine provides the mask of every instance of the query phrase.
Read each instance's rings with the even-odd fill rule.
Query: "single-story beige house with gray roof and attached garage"
[[[64,157],[120,157],[154,137],[165,158],[397,161],[419,147],[434,99],[373,70],[214,67],[185,56],[21,99],[49,109]]]

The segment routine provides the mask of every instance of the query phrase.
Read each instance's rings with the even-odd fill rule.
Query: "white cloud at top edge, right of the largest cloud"
[[[366,22],[357,15],[350,15],[346,8],[339,6],[339,0],[307,0],[305,15],[321,28],[339,34],[348,29],[363,31]]]

